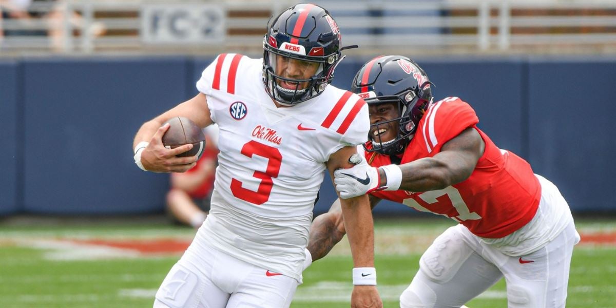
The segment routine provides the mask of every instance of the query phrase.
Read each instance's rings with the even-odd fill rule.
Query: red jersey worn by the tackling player
[[[419,121],[415,137],[402,156],[401,164],[432,157],[448,140],[466,128],[474,128],[484,139],[485,152],[468,179],[441,190],[380,191],[372,195],[450,217],[479,237],[505,237],[523,227],[537,211],[539,181],[529,163],[496,147],[477,123],[479,119],[468,103],[458,97],[440,100]],[[391,164],[389,156],[376,152],[367,152],[366,158],[375,167]]]

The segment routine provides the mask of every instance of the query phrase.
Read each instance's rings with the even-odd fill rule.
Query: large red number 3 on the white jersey
[[[265,169],[265,172],[254,171],[253,173],[254,177],[261,179],[261,184],[259,184],[256,192],[241,187],[241,181],[235,178],[231,179],[231,192],[236,198],[254,203],[256,205],[262,205],[269,200],[269,195],[272,192],[272,186],[274,185],[274,181],[272,179],[277,177],[278,172],[280,172],[282,155],[280,155],[280,151],[278,151],[277,148],[260,144],[254,140],[246,143],[241,148],[240,153],[248,156],[249,158],[252,158],[253,155],[259,155],[267,158],[267,169]]]

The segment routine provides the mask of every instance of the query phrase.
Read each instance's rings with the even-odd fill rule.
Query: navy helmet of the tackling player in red
[[[432,103],[431,82],[426,72],[413,60],[400,55],[379,56],[365,63],[357,72],[351,91],[368,105],[397,103],[399,117],[371,124],[374,131],[379,126],[397,121],[399,131],[392,140],[381,140],[380,134],[371,134],[364,145],[368,152],[385,155],[402,153],[415,136],[419,120]],[[371,147],[367,147],[371,144]]]

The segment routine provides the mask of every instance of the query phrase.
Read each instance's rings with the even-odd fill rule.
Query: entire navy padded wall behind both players
[[[197,93],[213,60],[188,57],[0,62],[0,215],[161,213],[166,174],[132,161],[140,124]],[[349,59],[348,88],[368,59]],[[458,96],[480,129],[561,188],[573,211],[616,212],[614,58],[415,59],[436,99]],[[315,213],[336,197],[326,176]],[[413,214],[390,202],[379,214]]]

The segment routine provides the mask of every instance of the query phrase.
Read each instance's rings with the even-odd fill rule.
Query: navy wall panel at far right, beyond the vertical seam
[[[529,163],[575,211],[616,211],[616,62],[532,59]]]

